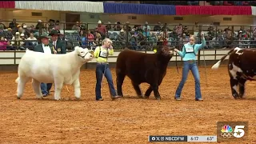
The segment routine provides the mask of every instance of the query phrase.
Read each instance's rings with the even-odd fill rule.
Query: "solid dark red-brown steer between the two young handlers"
[[[150,87],[146,90],[145,98],[149,98],[151,92],[154,91],[154,97],[161,99],[158,86],[161,85],[162,79],[166,75],[168,62],[173,56],[173,51],[170,50],[168,46],[161,46],[155,54],[128,49],[118,54],[116,63],[118,95],[123,96],[122,83],[127,75],[131,79],[138,97],[142,98],[139,85],[146,82],[150,84]]]

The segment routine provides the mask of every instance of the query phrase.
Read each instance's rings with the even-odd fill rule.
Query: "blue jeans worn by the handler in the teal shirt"
[[[182,88],[186,82],[187,75],[189,74],[190,70],[194,76],[195,82],[195,98],[202,98],[201,88],[200,88],[200,76],[198,72],[197,63],[194,62],[184,62],[183,69],[182,69],[182,81],[179,83],[178,88],[175,93],[175,98],[180,98],[182,94]]]

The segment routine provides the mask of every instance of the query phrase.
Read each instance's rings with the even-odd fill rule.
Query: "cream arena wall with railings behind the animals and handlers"
[[[114,51],[114,55],[110,56],[108,62],[110,63],[110,67],[115,66],[116,59],[120,50]],[[142,53],[153,54],[153,51],[139,51]],[[204,52],[204,54],[203,54]],[[229,50],[201,50],[198,53],[198,65],[204,66],[204,60],[206,61],[206,66],[212,66],[215,62],[217,62],[223,55],[227,54]],[[18,70],[18,63],[20,62],[23,54],[25,51],[18,50],[18,51],[0,51],[0,71],[12,71],[17,72]],[[229,56],[226,57],[226,59]],[[169,66],[176,66],[176,61],[178,66],[182,66],[182,58],[178,56],[178,54],[174,53],[174,57],[170,59]],[[93,61],[86,63],[82,66],[82,70],[84,69],[92,69],[95,68],[96,59],[94,58]]]

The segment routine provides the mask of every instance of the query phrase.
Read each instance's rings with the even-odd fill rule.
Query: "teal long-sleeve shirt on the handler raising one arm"
[[[194,46],[194,53],[186,53],[186,50],[189,50],[189,49],[191,50],[193,46]],[[195,60],[196,54],[198,54],[198,50],[202,49],[204,46],[206,46],[205,38],[202,38],[201,44],[190,45],[190,42],[188,42],[182,47],[182,51],[178,51],[178,55],[182,57],[183,61]]]

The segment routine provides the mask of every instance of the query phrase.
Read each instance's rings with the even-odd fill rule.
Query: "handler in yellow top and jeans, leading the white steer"
[[[97,65],[96,65],[96,88],[95,88],[95,94],[96,94],[96,101],[103,101],[102,98],[102,78],[103,74],[106,77],[106,80],[108,82],[109,88],[110,88],[110,94],[112,100],[118,97],[116,90],[114,89],[113,79],[111,75],[111,71],[109,68],[109,63],[107,62],[108,56],[114,54],[114,49],[112,46],[112,41],[109,38],[105,38],[102,41],[102,46],[96,47],[94,50],[94,57],[97,58]]]

